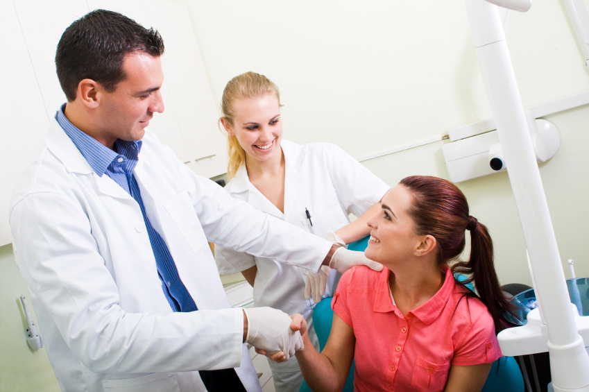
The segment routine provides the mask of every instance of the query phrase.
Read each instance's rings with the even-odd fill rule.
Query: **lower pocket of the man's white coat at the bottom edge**
[[[103,380],[105,392],[180,392],[176,373],[152,373],[142,377]]]

